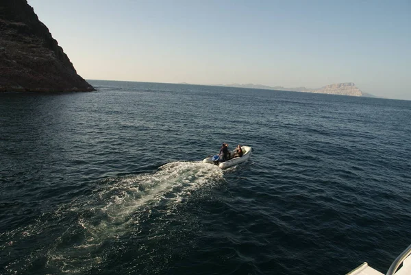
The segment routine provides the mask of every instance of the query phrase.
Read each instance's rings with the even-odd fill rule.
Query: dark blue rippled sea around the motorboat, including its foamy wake
[[[0,94],[0,274],[385,273],[411,101],[90,80]],[[228,169],[222,143],[253,148]]]

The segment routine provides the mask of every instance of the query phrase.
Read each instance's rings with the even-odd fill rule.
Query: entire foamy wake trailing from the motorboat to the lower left
[[[45,254],[45,268],[50,272],[82,274],[107,259],[113,243],[123,238],[155,239],[167,234],[165,226],[184,219],[179,207],[201,187],[221,184],[221,169],[206,163],[175,162],[163,165],[152,174],[107,178],[87,198],[78,198],[61,206],[53,217],[40,217],[36,224],[8,232],[13,242],[59,231],[54,241],[39,254]],[[178,216],[178,217],[177,217]],[[1,238],[3,239],[3,238]],[[29,241],[29,240],[25,240]],[[140,247],[145,252],[147,243]],[[138,252],[136,252],[138,254]],[[29,266],[36,256],[27,256]],[[19,263],[18,266],[14,266]],[[21,270],[21,261],[10,263],[8,272]],[[18,272],[17,272],[18,273]]]

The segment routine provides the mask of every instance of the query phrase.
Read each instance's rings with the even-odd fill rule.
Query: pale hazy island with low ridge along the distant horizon
[[[349,95],[354,97],[375,97],[369,93],[362,92],[355,84],[352,82],[347,83],[336,83],[321,88],[285,88],[282,86],[266,86],[259,84],[219,84],[217,86],[225,87],[236,87],[236,88],[260,88],[266,90],[277,90],[277,91],[295,91],[304,93],[325,93],[329,95]]]

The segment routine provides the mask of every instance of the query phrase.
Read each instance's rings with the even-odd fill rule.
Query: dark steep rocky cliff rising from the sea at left
[[[0,0],[0,91],[94,91],[27,0]]]

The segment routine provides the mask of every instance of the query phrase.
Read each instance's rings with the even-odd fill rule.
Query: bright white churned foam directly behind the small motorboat
[[[181,202],[190,191],[222,178],[221,169],[204,163],[176,162],[160,167],[155,174],[121,178],[99,192],[105,203],[101,211],[108,223],[127,224],[129,215],[147,204]],[[85,225],[86,226],[86,225]]]

